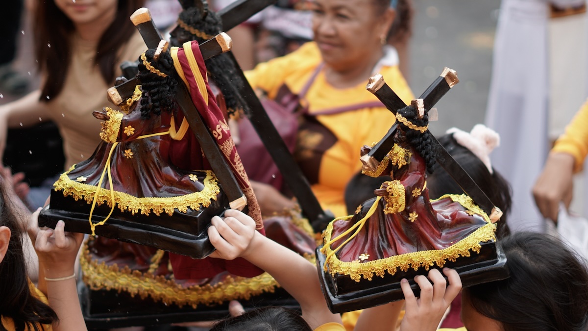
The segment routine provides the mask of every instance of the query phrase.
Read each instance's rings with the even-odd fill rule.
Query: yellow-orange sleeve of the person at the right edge
[[[564,134],[559,137],[553,146],[552,152],[572,154],[576,159],[574,172],[582,170],[584,158],[588,155],[588,100],[584,102],[570,124],[567,125]]]

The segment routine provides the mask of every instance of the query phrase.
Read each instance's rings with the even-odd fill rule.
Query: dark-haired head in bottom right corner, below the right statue
[[[561,240],[516,233],[499,241],[510,277],[465,289],[473,309],[504,331],[585,331],[588,270]]]

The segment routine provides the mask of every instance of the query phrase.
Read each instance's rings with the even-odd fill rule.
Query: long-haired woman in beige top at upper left
[[[35,54],[42,87],[0,106],[0,155],[7,128],[52,120],[64,140],[65,165],[90,157],[100,141],[92,111],[108,106],[106,89],[147,47],[129,16],[144,0],[48,0],[35,8]]]

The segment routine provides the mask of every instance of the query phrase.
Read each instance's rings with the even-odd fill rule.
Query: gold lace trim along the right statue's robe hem
[[[470,256],[471,251],[480,253],[480,248],[482,247],[480,243],[496,240],[496,225],[490,223],[489,217],[480,209],[480,207],[473,204],[473,201],[470,197],[466,196],[465,194],[447,194],[437,200],[447,197],[461,204],[467,210],[473,211],[476,214],[480,214],[487,223],[470,233],[464,239],[457,241],[457,243],[447,247],[446,249],[416,251],[413,253],[386,257],[385,259],[358,263],[342,262],[339,260],[339,257],[333,253],[333,251],[338,250],[339,247],[333,250],[330,246],[330,244],[333,243],[331,240],[331,235],[333,233],[333,222],[331,222],[329,223],[329,226],[327,226],[325,233],[323,233],[325,243],[329,244],[325,244],[325,246],[323,246],[320,250],[323,254],[325,254],[325,256],[330,257],[329,259],[326,259],[325,271],[328,271],[332,275],[336,273],[343,274],[349,276],[356,282],[359,282],[362,277],[367,280],[372,280],[374,274],[380,277],[384,277],[386,272],[389,274],[395,274],[398,268],[400,268],[400,270],[403,272],[406,272],[410,268],[418,270],[420,267],[425,267],[426,270],[429,270],[429,267],[433,266],[434,264],[437,264],[439,267],[443,267],[447,261],[455,262],[455,260],[460,256]],[[342,217],[338,220],[350,220],[351,217],[352,216]]]

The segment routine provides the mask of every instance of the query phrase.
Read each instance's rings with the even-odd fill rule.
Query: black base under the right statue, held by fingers
[[[496,246],[495,241],[481,243],[480,253],[472,252],[469,257],[459,257],[456,262],[447,262],[444,267],[455,269],[462,280],[463,287],[493,282],[509,277],[506,267],[506,256]],[[379,304],[389,303],[404,299],[400,280],[406,278],[413,292],[419,296],[420,289],[415,283],[414,277],[429,272],[425,268],[419,270],[409,269],[406,272],[398,269],[393,275],[386,273],[384,277],[373,276],[372,280],[362,279],[355,282],[349,276],[323,271],[325,255],[316,249],[316,267],[319,273],[320,286],[333,313],[350,312],[352,310],[365,309]],[[439,269],[438,267],[436,267]],[[445,276],[444,276],[445,277]]]

